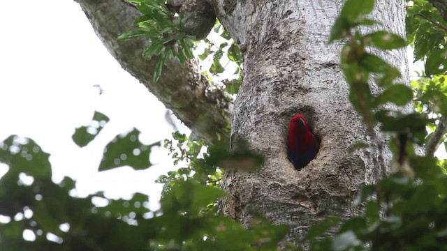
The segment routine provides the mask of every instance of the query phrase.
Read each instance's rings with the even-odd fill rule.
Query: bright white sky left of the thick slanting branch
[[[104,146],[119,133],[136,127],[140,140],[152,144],[170,138],[173,126],[163,104],[103,47],[78,3],[1,1],[0,31],[0,141],[9,135],[34,139],[51,154],[53,181],[74,178],[78,196],[103,190],[117,199],[143,192],[157,208],[161,185],[154,180],[174,169],[166,149],[153,149],[156,165],[143,171],[97,169]],[[95,110],[110,122],[80,148],[71,135],[90,123]],[[178,121],[177,126],[189,133]],[[6,170],[1,165],[0,175]]]

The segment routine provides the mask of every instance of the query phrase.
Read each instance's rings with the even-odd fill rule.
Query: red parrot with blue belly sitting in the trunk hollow
[[[288,128],[287,152],[295,169],[302,169],[318,153],[320,143],[309,128],[305,116],[297,114],[293,116]]]

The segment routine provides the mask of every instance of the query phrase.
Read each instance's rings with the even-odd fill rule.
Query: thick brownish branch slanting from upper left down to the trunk
[[[122,0],[75,0],[84,10],[96,35],[124,70],[144,84],[193,133],[208,143],[218,137],[228,145],[230,99],[216,83],[208,82],[197,60],[166,62],[158,82],[152,82],[157,59],[142,57],[145,40],[118,41],[124,31],[133,29],[138,10]],[[217,136],[219,135],[219,136]]]

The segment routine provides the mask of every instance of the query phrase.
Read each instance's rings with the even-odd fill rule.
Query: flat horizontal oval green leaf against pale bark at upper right
[[[372,45],[382,50],[393,50],[406,46],[404,38],[388,31],[376,31],[365,35],[363,38],[367,45]]]

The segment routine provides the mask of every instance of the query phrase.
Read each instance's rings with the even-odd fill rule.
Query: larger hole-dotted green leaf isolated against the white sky
[[[133,129],[126,135],[117,135],[105,146],[103,159],[99,165],[99,171],[105,171],[116,167],[129,165],[135,170],[147,169],[152,166],[149,154],[152,147],[160,146],[160,143],[142,144],[138,139],[140,131]]]

